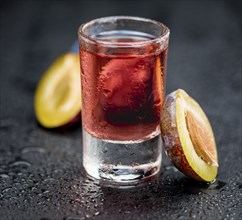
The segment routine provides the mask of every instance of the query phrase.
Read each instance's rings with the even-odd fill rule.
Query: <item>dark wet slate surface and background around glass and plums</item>
[[[242,219],[241,1],[1,1],[0,219]],[[83,172],[81,127],[39,127],[42,73],[92,18],[129,14],[171,29],[167,92],[185,89],[214,128],[219,174],[200,185],[163,154],[162,175],[133,189]]]

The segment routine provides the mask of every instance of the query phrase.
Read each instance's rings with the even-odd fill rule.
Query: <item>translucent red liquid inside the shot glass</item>
[[[115,55],[80,50],[83,128],[92,136],[137,141],[160,133],[167,49],[147,55],[135,50],[136,54]]]

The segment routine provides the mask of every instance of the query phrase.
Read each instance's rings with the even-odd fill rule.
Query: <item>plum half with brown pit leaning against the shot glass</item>
[[[165,99],[161,134],[167,156],[182,173],[203,182],[216,178],[218,156],[211,125],[200,105],[182,89]]]

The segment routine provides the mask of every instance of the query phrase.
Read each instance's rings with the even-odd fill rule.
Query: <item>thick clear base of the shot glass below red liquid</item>
[[[161,138],[145,141],[109,141],[83,129],[83,166],[108,184],[130,185],[156,176],[161,167]]]

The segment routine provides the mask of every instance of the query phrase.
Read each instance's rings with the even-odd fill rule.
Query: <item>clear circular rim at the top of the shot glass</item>
[[[152,24],[156,25],[157,27],[161,28],[163,30],[163,33],[160,36],[157,36],[153,39],[139,40],[137,42],[127,41],[127,42],[125,42],[125,44],[123,42],[113,42],[113,41],[111,42],[111,41],[107,41],[107,40],[103,40],[103,39],[98,39],[96,37],[92,37],[92,36],[84,33],[84,30],[87,27],[90,27],[91,25],[93,25],[96,22],[105,23],[108,21],[116,22],[118,20],[141,21],[141,22],[147,22],[147,23],[149,22],[149,23],[152,23]],[[86,23],[83,23],[78,29],[78,35],[79,35],[79,37],[84,39],[85,42],[95,44],[95,45],[100,45],[100,46],[104,46],[104,47],[135,48],[135,47],[141,47],[141,46],[149,46],[149,45],[153,45],[156,43],[162,43],[163,41],[166,42],[170,35],[170,30],[165,24],[163,24],[159,21],[156,21],[156,20],[149,19],[149,18],[143,18],[143,17],[138,17],[138,16],[108,16],[108,17],[96,18],[96,19],[93,19]]]

